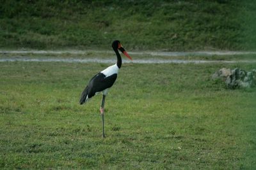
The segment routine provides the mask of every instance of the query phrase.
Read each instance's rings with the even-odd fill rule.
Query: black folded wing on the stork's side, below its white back
[[[98,73],[90,80],[88,84],[88,97],[92,97],[96,92],[101,92],[115,83],[117,74],[111,76],[105,76],[103,73]]]

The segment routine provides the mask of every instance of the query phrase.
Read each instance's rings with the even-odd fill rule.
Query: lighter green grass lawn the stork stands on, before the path
[[[106,139],[84,85],[108,64],[0,62],[1,169],[254,169],[256,89],[211,74],[255,64],[124,64]]]

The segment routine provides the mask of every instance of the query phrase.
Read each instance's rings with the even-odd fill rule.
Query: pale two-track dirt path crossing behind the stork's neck
[[[58,51],[44,51],[44,50],[0,50],[0,53],[3,57],[0,58],[0,62],[99,62],[99,63],[114,63],[115,59],[99,59],[99,58],[61,58],[61,57],[47,57],[46,55],[50,54],[84,54],[88,52],[94,53],[113,53],[112,51],[93,51],[93,50],[58,50]],[[18,57],[4,57],[4,54],[13,54]],[[45,57],[26,57],[24,54],[45,54]],[[131,55],[151,55],[151,56],[169,56],[169,57],[179,57],[186,55],[202,55],[202,56],[213,56],[213,55],[247,55],[247,54],[256,54],[256,52],[230,52],[230,51],[218,51],[218,52],[129,52]],[[23,55],[19,57],[19,55]],[[179,63],[179,64],[187,64],[187,63],[237,63],[237,62],[250,62],[256,63],[256,60],[180,60],[180,59],[134,59],[133,61],[125,60],[124,63],[140,63],[140,64],[163,64],[163,63]]]

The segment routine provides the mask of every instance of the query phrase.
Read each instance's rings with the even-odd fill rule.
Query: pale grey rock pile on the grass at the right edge
[[[256,69],[253,69],[252,72],[246,72],[239,68],[232,70],[222,68],[212,75],[212,79],[225,81],[228,89],[253,87],[256,85]]]

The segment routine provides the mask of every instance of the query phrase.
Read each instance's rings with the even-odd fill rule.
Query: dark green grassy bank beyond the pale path
[[[255,50],[252,1],[6,1],[1,48]]]

